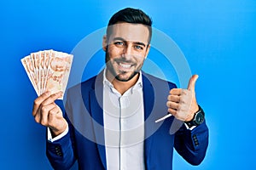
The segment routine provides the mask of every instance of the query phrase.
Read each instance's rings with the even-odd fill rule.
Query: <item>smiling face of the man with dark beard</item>
[[[148,55],[148,37],[148,26],[142,24],[120,23],[112,26],[108,40],[103,38],[103,49],[106,51],[108,71],[113,77],[127,82],[137,75]]]

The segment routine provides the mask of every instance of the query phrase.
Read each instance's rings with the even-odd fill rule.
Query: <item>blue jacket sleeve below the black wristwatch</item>
[[[192,165],[199,165],[206,156],[208,146],[206,121],[189,130],[183,126],[175,133],[174,147],[177,153]]]

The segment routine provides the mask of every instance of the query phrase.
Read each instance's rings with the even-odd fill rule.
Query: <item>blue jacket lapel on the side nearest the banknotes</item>
[[[104,123],[103,123],[103,110],[102,110],[102,76],[100,73],[96,77],[95,84],[93,84],[90,90],[90,111],[93,121],[94,133],[96,136],[96,144],[99,151],[99,155],[102,160],[102,164],[107,168],[106,163],[106,150],[105,150],[105,138],[104,138]]]

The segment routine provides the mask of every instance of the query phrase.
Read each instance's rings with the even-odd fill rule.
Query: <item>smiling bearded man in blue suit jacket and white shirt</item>
[[[79,169],[172,169],[173,148],[201,163],[208,129],[195,99],[198,76],[181,89],[141,71],[151,25],[139,9],[113,14],[102,42],[106,68],[68,90],[64,116],[55,105],[61,92],[35,99],[32,115],[48,127],[52,167],[68,169],[78,160]],[[155,122],[167,112],[172,116]]]

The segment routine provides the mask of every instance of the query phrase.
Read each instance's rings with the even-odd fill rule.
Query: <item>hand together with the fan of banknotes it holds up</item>
[[[62,92],[67,87],[73,55],[50,49],[20,60],[39,96],[34,100],[32,116],[36,122],[49,127],[52,137],[58,136],[65,131],[67,121],[55,100],[63,99]]]

